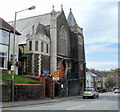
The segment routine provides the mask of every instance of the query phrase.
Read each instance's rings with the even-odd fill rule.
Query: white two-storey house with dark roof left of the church
[[[8,61],[12,62],[13,56],[13,33],[14,28],[6,21],[0,18],[0,70],[2,72],[8,70]],[[15,32],[15,59],[18,60],[18,36],[19,32]],[[17,71],[16,71],[17,72]]]

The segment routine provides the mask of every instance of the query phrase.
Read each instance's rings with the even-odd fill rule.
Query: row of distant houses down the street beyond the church
[[[115,87],[119,87],[119,71],[99,71],[95,69],[86,70],[86,87],[95,87],[101,89],[106,88],[106,80],[108,76],[113,76],[116,79]],[[107,88],[106,88],[107,89]]]

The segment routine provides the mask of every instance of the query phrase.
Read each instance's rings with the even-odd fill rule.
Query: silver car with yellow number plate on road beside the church
[[[88,97],[99,98],[99,92],[95,88],[85,88],[83,99]]]

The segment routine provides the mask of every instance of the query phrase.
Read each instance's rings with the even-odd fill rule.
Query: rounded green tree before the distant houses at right
[[[105,86],[111,90],[116,85],[116,82],[116,78],[113,75],[108,75],[105,80]]]

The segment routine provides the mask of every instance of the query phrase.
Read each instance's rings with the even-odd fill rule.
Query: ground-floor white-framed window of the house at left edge
[[[0,52],[0,68],[7,69],[7,53]]]

